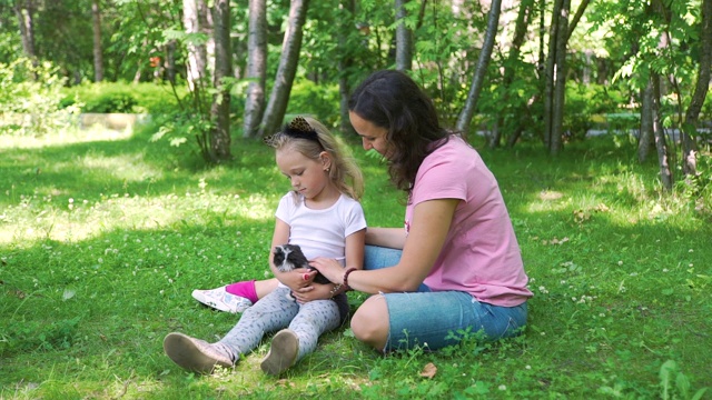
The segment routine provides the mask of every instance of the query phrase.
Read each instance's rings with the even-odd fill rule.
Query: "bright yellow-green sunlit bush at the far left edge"
[[[40,136],[69,126],[77,109],[59,111],[62,82],[49,62],[0,63],[0,134]]]

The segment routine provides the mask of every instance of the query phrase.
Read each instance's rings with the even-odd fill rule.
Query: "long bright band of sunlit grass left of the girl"
[[[270,221],[278,199],[261,194],[175,193],[159,197],[110,194],[96,202],[26,202],[0,214],[0,244],[30,247],[36,241],[81,241],[116,230],[210,226],[220,221]]]

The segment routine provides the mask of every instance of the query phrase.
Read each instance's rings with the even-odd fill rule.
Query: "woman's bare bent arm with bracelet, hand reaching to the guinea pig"
[[[405,239],[400,261],[392,268],[350,272],[349,288],[366,293],[416,290],[443,249],[459,201],[458,199],[436,199],[415,206],[411,231]],[[343,282],[343,270],[320,262],[312,264],[330,281]]]

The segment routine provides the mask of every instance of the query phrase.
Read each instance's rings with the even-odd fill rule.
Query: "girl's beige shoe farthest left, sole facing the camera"
[[[164,339],[164,351],[178,366],[198,373],[212,373],[216,366],[235,366],[229,354],[221,351],[219,346],[182,333],[168,333]]]

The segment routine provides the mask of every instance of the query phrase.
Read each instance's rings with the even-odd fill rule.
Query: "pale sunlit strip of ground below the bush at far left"
[[[67,128],[38,137],[0,134],[0,149],[38,149],[92,141],[119,141],[128,140],[132,136],[134,128],[131,126],[123,130],[107,129],[100,126],[89,129]]]

